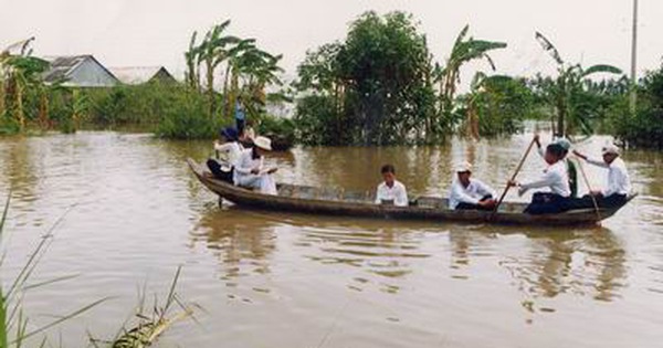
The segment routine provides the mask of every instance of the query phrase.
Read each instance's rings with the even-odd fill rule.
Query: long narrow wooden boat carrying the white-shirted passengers
[[[471,222],[523,225],[591,225],[612,217],[620,208],[568,211],[560,214],[530,215],[523,213],[526,203],[503,202],[499,211],[450,210],[448,200],[419,197],[410,207],[376,204],[372,193],[344,191],[337,188],[315,188],[281,183],[278,194],[269,196],[214,179],[207,169],[188,159],[191,171],[200,182],[221,198],[240,207],[292,211],[313,214],[411,219],[439,222]],[[629,201],[635,194],[629,197]]]

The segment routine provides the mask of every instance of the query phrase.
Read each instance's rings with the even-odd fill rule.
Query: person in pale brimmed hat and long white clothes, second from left
[[[265,168],[264,155],[272,150],[272,140],[255,137],[253,148],[242,152],[234,170],[234,183],[239,187],[260,190],[261,193],[276,194],[276,182],[272,175],[277,168]]]

